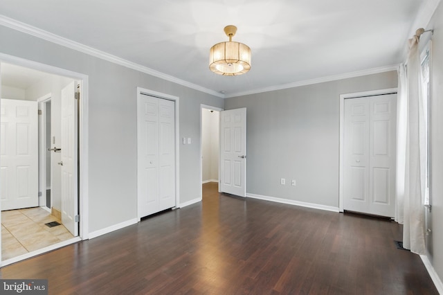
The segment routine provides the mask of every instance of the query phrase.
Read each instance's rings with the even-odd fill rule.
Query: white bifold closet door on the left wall
[[[140,94],[137,103],[138,217],[176,206],[175,102]]]

